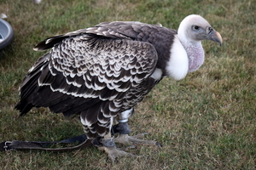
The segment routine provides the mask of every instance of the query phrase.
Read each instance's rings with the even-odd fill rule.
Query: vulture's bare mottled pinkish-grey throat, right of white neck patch
[[[202,48],[201,41],[191,42],[183,41],[180,39],[185,48],[188,58],[189,58],[189,72],[196,71],[201,67],[205,60],[205,52]]]

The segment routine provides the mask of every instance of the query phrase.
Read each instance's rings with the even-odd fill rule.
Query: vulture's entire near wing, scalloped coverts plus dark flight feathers
[[[124,98],[151,75],[156,61],[155,49],[147,42],[70,37],[32,67],[21,83],[20,103],[75,114],[101,100]]]

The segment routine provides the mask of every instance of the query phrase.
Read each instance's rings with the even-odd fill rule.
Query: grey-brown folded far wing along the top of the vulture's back
[[[154,29],[151,29],[154,28]],[[55,37],[49,37],[43,42],[39,42],[34,48],[36,51],[43,51],[52,48],[55,44],[60,43],[67,37],[76,37],[83,34],[94,34],[102,37],[110,38],[125,38],[132,40],[145,41],[152,31],[171,31],[172,34],[177,34],[177,31],[169,30],[162,26],[148,25],[138,21],[113,21],[102,22],[96,26],[81,29],[78,31],[68,32]],[[166,32],[165,32],[166,34]]]

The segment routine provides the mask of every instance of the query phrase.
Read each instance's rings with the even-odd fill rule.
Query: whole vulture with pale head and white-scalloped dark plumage
[[[113,21],[49,37],[34,48],[50,50],[21,82],[15,109],[20,116],[33,107],[79,116],[87,138],[112,160],[129,155],[115,143],[158,144],[128,135],[134,106],[163,77],[181,80],[201,67],[201,40],[222,44],[218,31],[197,14],[185,17],[177,31]]]

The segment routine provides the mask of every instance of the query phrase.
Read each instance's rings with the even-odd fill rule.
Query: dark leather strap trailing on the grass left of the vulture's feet
[[[49,148],[52,144],[78,144],[73,147],[65,148]],[[0,143],[0,150],[9,151],[9,150],[48,150],[48,151],[70,151],[70,150],[79,150],[84,147],[93,145],[90,139],[87,139],[85,134],[65,139],[61,141],[54,142],[37,142],[37,141],[4,141]]]

